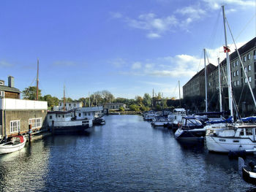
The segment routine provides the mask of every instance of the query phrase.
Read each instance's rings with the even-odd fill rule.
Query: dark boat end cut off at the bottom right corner
[[[256,166],[252,161],[250,161],[248,165],[249,166],[246,166],[244,164],[243,158],[238,158],[238,169],[241,172],[243,179],[247,183],[252,183],[256,185]]]

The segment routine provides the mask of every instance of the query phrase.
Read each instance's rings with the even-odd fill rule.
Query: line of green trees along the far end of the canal
[[[29,88],[25,88],[22,91],[23,99],[35,100],[36,99],[36,91],[37,88],[34,86],[30,86]],[[56,96],[51,96],[47,94],[42,96],[42,91],[39,89],[38,96],[39,101],[48,101],[49,109],[52,109],[53,106],[58,106],[59,101],[63,101],[64,98],[57,98]],[[78,100],[73,100],[71,98],[65,98],[65,101],[82,101],[83,107],[94,107],[102,104],[108,103],[124,103],[127,105],[129,110],[136,112],[143,112],[148,110],[162,110],[168,108],[170,106],[177,106],[179,102],[175,101],[175,99],[168,99],[162,96],[162,93],[156,94],[153,99],[150,94],[145,93],[143,96],[135,96],[135,99],[127,99],[117,97],[115,98],[110,91],[97,91],[92,93],[89,97],[82,97]],[[120,109],[124,110],[124,109]]]

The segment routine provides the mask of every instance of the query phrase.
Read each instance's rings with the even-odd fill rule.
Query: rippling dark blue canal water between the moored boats
[[[0,191],[255,190],[238,174],[236,159],[183,145],[140,115],[105,121],[85,134],[50,136],[1,155]]]

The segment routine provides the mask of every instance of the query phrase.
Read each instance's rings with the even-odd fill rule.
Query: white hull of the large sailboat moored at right
[[[256,142],[249,138],[222,138],[206,136],[206,146],[209,151],[229,153],[230,151],[254,150]]]

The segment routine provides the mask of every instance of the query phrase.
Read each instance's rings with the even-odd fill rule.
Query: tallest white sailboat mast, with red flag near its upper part
[[[223,24],[224,24],[224,34],[225,34],[225,46],[227,47],[227,33],[226,33],[226,20],[225,20],[225,10],[224,5],[222,5],[223,12]],[[230,116],[233,117],[233,99],[232,99],[232,86],[231,86],[231,69],[230,69],[230,57],[228,55],[228,50],[226,52],[227,61],[227,88],[228,88],[228,103],[230,108]]]

